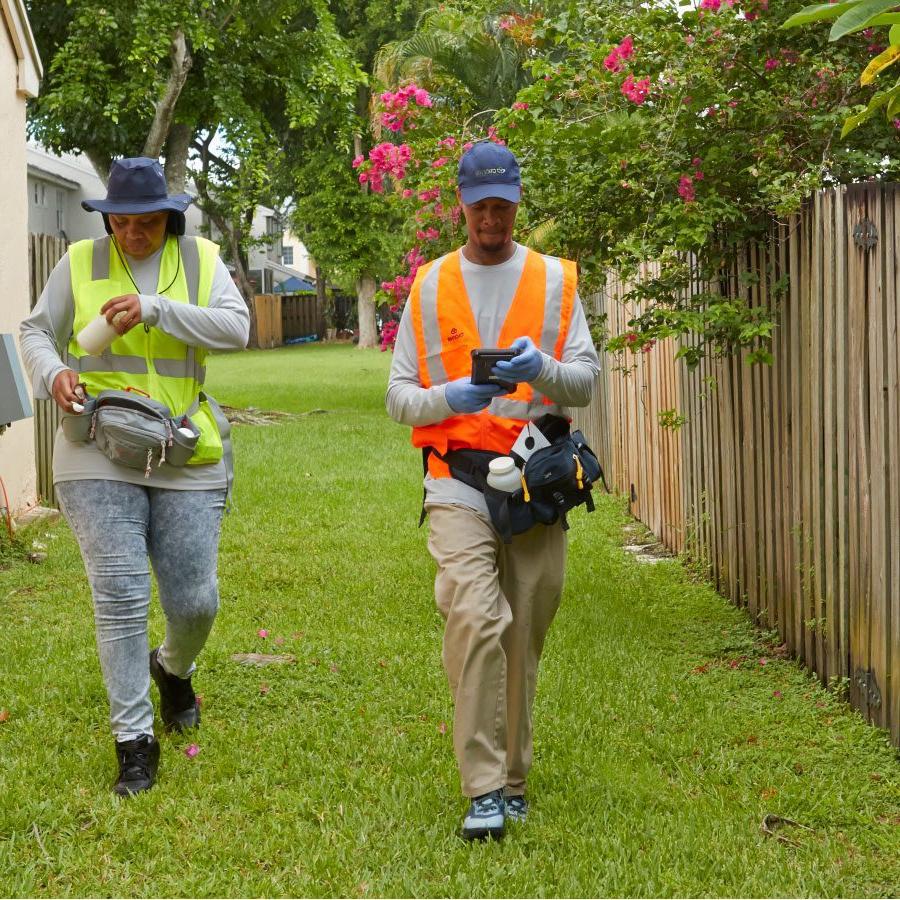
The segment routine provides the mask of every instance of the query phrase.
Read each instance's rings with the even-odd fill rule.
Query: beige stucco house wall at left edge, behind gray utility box
[[[0,333],[18,343],[19,322],[28,315],[28,197],[25,162],[25,98],[17,90],[15,49],[0,15]],[[0,478],[15,513],[37,499],[34,464],[34,423],[14,422],[0,435]]]

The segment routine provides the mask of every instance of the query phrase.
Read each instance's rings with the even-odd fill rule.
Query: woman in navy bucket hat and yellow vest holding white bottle
[[[91,585],[119,763],[113,789],[123,796],[156,778],[151,676],[167,730],[200,722],[191,675],[218,608],[231,481],[228,424],[203,393],[204,363],[208,351],[240,349],[249,335],[247,305],[218,247],[184,237],[190,203],[167,193],[156,160],[113,162],[107,196],[82,203],[101,213],[107,236],[69,247],[21,326],[35,397],[52,397],[64,413],[54,484]],[[102,352],[78,341],[98,316],[115,330]],[[143,453],[132,426],[158,409],[169,416],[167,438],[132,467],[135,447]],[[166,619],[152,652],[148,558]]]

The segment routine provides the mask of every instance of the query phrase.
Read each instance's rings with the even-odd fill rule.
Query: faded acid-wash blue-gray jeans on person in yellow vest
[[[119,741],[153,734],[150,564],[166,617],[159,661],[169,674],[184,678],[194,669],[219,606],[216,564],[225,491],[85,479],[60,482],[56,495],[78,539],[94,597],[112,732]]]

